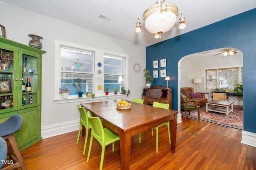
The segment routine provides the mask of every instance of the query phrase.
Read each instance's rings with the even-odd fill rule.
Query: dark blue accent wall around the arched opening
[[[146,47],[146,68],[151,76],[153,70],[166,69],[171,79],[168,86],[173,88],[173,109],[178,110],[178,61],[186,55],[223,47],[243,52],[244,131],[256,133],[256,8]],[[159,68],[153,69],[153,61],[160,59],[166,59],[167,67],[160,68],[159,62]],[[166,80],[154,78],[152,86],[157,85],[166,86]]]

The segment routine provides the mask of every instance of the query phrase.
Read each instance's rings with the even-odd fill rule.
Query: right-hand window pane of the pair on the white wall
[[[125,76],[125,57],[104,54],[104,85],[109,84],[109,92],[114,92],[118,88],[120,92],[121,86],[124,86]]]

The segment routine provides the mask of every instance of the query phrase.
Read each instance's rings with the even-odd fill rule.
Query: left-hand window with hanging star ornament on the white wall
[[[93,92],[93,58],[94,52],[60,46],[60,87],[74,89],[80,78],[82,92]],[[70,96],[78,95],[76,89]]]

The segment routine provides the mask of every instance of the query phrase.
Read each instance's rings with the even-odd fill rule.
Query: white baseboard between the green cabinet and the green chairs
[[[45,139],[48,137],[53,137],[64,133],[69,133],[72,131],[77,131],[79,129],[79,123],[80,119],[75,121],[68,121],[64,123],[44,126],[42,127],[41,136],[43,137],[43,139]]]

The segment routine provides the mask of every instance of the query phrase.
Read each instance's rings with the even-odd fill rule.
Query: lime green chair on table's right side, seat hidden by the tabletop
[[[163,104],[163,103],[158,103],[158,102],[154,102],[153,103],[153,107],[160,107],[163,109],[169,109],[169,104]],[[156,127],[153,127],[151,129],[152,131],[152,136],[154,135],[153,133],[153,129],[156,129],[156,153],[158,153],[158,128],[161,126],[167,125],[167,129],[168,129],[168,137],[169,137],[169,144],[171,144],[171,138],[170,138],[170,124],[169,121],[162,123],[161,125],[158,125]]]

